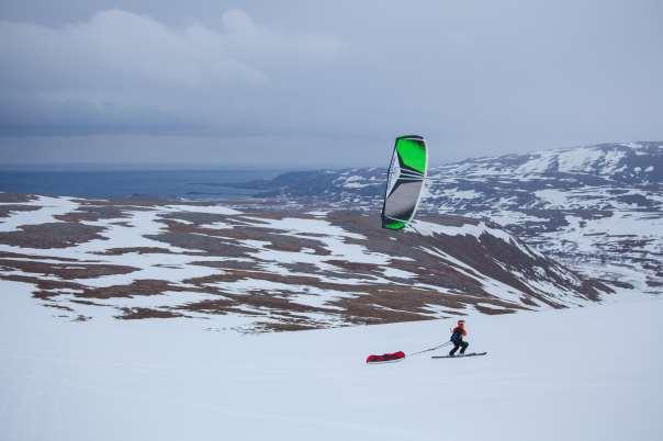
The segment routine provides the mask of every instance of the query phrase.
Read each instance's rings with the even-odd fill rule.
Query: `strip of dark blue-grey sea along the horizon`
[[[0,170],[0,192],[76,197],[227,200],[256,190],[232,183],[272,179],[285,170]]]

